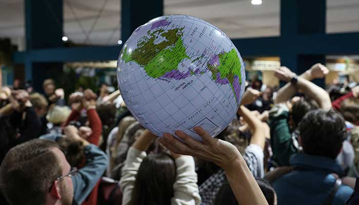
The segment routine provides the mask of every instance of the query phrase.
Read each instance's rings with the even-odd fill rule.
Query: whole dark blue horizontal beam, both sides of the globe
[[[359,33],[306,34],[287,38],[232,39],[243,56],[350,55],[359,53]],[[116,60],[122,46],[35,49],[14,54],[16,64],[36,62]]]

